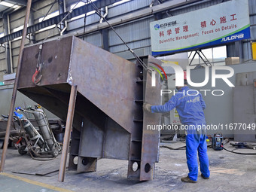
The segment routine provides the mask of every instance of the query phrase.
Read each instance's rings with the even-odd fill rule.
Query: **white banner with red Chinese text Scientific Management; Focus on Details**
[[[152,55],[250,38],[248,0],[233,0],[150,23]]]

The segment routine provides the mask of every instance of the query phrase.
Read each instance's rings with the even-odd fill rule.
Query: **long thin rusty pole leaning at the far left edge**
[[[29,23],[29,14],[30,14],[31,4],[32,4],[32,0],[28,0],[28,2],[26,4],[26,15],[25,15],[25,20],[24,20],[23,35],[22,35],[21,42],[20,42],[20,51],[19,51],[19,58],[18,58],[18,63],[17,63],[16,78],[14,81],[14,90],[13,90],[13,94],[11,97],[9,118],[8,118],[8,124],[6,127],[5,142],[4,142],[4,147],[3,147],[3,151],[2,151],[2,157],[1,157],[0,172],[3,172],[4,168],[5,168],[6,152],[7,152],[7,148],[8,148],[9,135],[10,135],[10,130],[11,130],[11,121],[14,116],[14,105],[15,105],[15,100],[16,100],[16,96],[17,96],[17,85],[18,85],[18,82],[20,79],[20,69],[21,69],[21,62],[22,62],[22,58],[23,58],[22,53],[23,53],[23,48],[24,48],[24,44],[26,41],[26,31],[27,31],[26,29],[27,29],[27,26]]]

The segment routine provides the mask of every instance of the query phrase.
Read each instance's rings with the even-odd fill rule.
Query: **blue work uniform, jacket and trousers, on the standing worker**
[[[165,113],[176,108],[178,111],[181,123],[186,129],[186,156],[187,167],[189,170],[188,176],[191,180],[197,181],[198,163],[197,151],[200,160],[200,171],[203,176],[208,178],[209,160],[207,155],[206,130],[202,125],[206,124],[203,109],[206,108],[206,103],[203,101],[201,93],[190,90],[189,87],[182,87],[178,92],[169,99],[164,105],[151,106],[152,113]],[[199,129],[200,127],[200,129]]]

